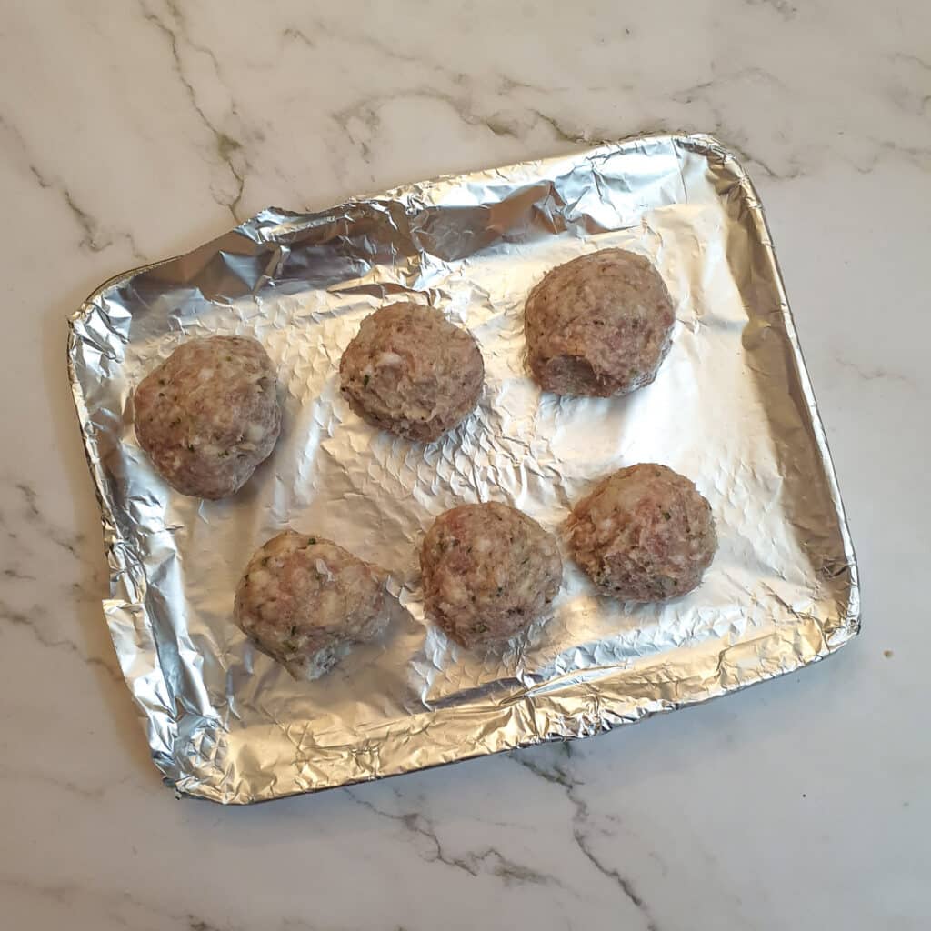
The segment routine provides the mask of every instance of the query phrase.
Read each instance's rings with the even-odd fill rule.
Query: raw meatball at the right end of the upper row
[[[622,249],[583,255],[547,273],[527,299],[533,377],[560,395],[625,395],[654,380],[674,322],[649,260]]]

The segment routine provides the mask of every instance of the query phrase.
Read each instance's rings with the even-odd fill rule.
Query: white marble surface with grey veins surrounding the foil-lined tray
[[[925,0],[42,0],[6,5],[0,75],[0,924],[931,926]],[[862,637],[571,747],[250,809],[176,802],[101,617],[67,315],[267,204],[645,128],[714,131],[762,193]]]

